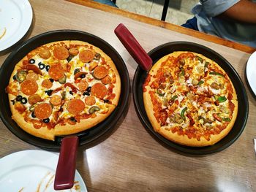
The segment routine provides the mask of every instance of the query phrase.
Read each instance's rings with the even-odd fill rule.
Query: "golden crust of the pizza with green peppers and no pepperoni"
[[[228,125],[222,131],[220,131],[220,133],[211,134],[210,139],[206,139],[207,137],[199,137],[199,138],[191,137],[191,135],[188,136],[187,134],[181,134],[180,131],[172,131],[172,127],[170,126],[165,126],[165,125],[161,126],[161,123],[157,120],[154,114],[155,113],[154,107],[156,107],[156,105],[153,104],[154,99],[152,100],[151,95],[156,93],[156,89],[151,88],[151,86],[149,85],[151,85],[151,83],[156,80],[157,71],[162,68],[161,65],[163,62],[167,61],[169,57],[177,58],[182,53],[187,53],[187,52],[178,51],[178,52],[165,55],[163,58],[160,58],[159,61],[157,61],[157,63],[154,64],[154,66],[151,68],[150,72],[148,72],[148,76],[149,76],[148,78],[150,78],[150,80],[145,84],[144,91],[143,91],[144,107],[146,110],[146,114],[148,116],[148,120],[151,122],[151,125],[154,128],[154,131],[157,131],[159,134],[161,134],[166,139],[169,139],[170,141],[176,142],[181,145],[187,145],[192,147],[203,147],[208,145],[214,145],[230,132],[230,130],[233,128],[233,125],[236,121],[236,117],[238,113],[238,101],[236,96],[236,89],[234,88],[229,77],[227,77],[227,80],[229,80],[229,83],[233,90],[233,94],[232,94],[233,99],[231,100],[234,105],[234,109],[232,113],[233,117],[231,118]],[[219,72],[226,74],[225,71],[214,61],[211,61],[211,59],[206,58],[204,55],[201,55],[201,54],[197,54],[197,53],[193,53],[193,54],[199,56],[200,58],[203,58],[203,60],[206,62],[212,63],[212,65],[217,67]]]

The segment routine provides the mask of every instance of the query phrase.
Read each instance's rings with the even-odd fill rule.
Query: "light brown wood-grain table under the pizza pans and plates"
[[[135,113],[130,93],[129,110],[116,128],[92,145],[79,147],[77,169],[89,191],[256,191],[252,140],[256,137],[256,101],[244,74],[246,61],[255,49],[91,1],[77,1],[86,6],[61,0],[30,2],[34,20],[26,39],[56,29],[97,35],[124,59],[131,82],[137,64],[113,33],[118,23],[124,23],[146,51],[173,41],[211,47],[235,67],[246,87],[249,118],[241,137],[227,149],[204,156],[178,154],[151,137]],[[0,64],[11,50],[0,53]],[[38,149],[15,137],[2,121],[0,145],[0,157]]]

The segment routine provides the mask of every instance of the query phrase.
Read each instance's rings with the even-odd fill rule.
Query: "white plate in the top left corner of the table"
[[[26,34],[32,18],[28,0],[0,0],[0,51],[11,47]]]

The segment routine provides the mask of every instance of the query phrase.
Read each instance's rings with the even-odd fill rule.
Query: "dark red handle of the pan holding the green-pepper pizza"
[[[142,69],[151,69],[152,59],[123,23],[115,28],[115,34]]]

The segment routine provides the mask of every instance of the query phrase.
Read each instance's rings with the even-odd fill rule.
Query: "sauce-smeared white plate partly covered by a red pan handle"
[[[54,191],[54,175],[59,155],[44,150],[23,150],[0,159],[0,191]],[[80,186],[80,188],[79,188]],[[75,189],[77,188],[77,189]],[[72,190],[87,192],[82,177],[75,171]]]

